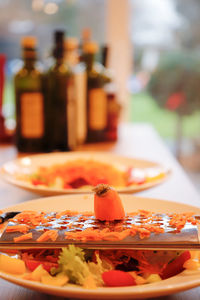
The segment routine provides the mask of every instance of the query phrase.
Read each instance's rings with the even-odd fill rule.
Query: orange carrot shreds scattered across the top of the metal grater
[[[176,233],[188,224],[200,224],[200,221],[195,219],[194,215],[194,213],[168,214],[165,218],[167,228]],[[37,242],[56,241],[59,230],[67,230],[65,231],[65,239],[81,241],[117,241],[123,240],[127,236],[133,237],[136,234],[144,239],[151,234],[165,232],[162,214],[155,214],[146,210],[128,213],[124,220],[120,222],[99,222],[91,212],[80,213],[69,210],[58,213],[23,211],[16,215],[12,222],[14,225],[7,226],[7,233],[28,233],[28,230],[37,230],[38,228],[38,230],[44,230]],[[52,228],[58,228],[58,230]],[[26,235],[24,236],[26,237]]]

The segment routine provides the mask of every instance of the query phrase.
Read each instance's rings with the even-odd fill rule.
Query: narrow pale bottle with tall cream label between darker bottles
[[[65,43],[66,55],[65,61],[72,69],[72,82],[74,89],[74,108],[76,115],[76,140],[77,144],[84,144],[87,137],[87,74],[86,66],[80,62],[78,52],[78,40],[68,38]]]

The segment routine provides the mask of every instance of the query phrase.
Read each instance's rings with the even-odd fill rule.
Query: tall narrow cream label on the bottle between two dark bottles
[[[79,144],[84,143],[87,135],[87,76],[86,72],[77,72],[74,74],[75,83],[75,100],[77,116],[77,141]]]

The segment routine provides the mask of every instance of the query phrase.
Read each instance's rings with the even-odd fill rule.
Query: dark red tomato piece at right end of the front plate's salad
[[[167,279],[181,273],[184,270],[184,263],[190,258],[190,251],[184,251],[164,268],[160,274],[161,278]]]

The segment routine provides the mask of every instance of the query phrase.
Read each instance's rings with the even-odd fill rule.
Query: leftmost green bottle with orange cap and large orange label
[[[42,152],[45,144],[42,74],[36,68],[35,37],[21,41],[24,65],[14,77],[16,146],[21,152]]]

